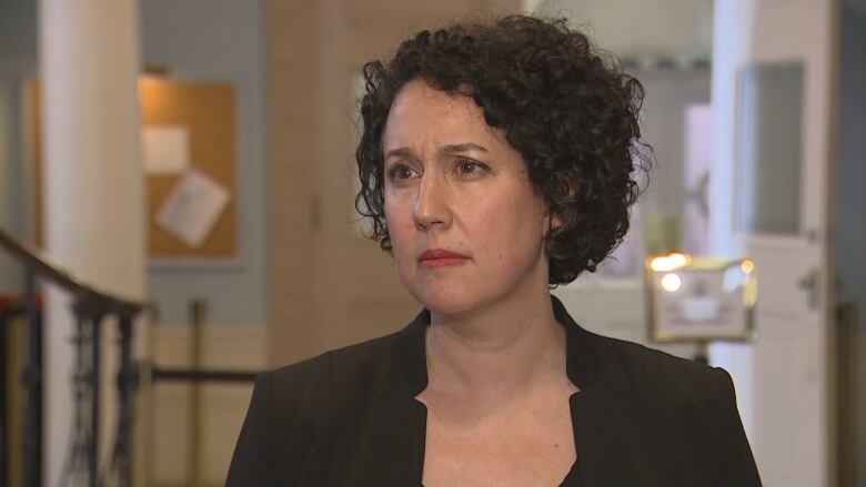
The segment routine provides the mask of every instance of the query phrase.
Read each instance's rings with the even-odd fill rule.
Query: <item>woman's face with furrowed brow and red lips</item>
[[[416,300],[457,316],[546,293],[545,205],[471,98],[406,83],[383,150],[387,230]]]

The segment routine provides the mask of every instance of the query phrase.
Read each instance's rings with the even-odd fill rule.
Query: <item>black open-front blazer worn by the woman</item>
[[[552,301],[580,388],[564,486],[761,485],[724,369],[590,333]],[[429,323],[262,374],[226,487],[420,486]]]

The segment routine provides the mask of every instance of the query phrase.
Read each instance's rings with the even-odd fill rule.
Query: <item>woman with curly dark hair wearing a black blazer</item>
[[[522,16],[421,32],[364,74],[359,206],[424,311],[259,377],[226,485],[761,485],[727,373],[550,295],[628,229],[640,83]]]

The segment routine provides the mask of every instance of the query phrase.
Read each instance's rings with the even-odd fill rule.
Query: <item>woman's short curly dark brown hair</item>
[[[397,92],[416,79],[472,97],[523,156],[534,190],[562,220],[545,235],[551,285],[595,272],[622,242],[637,176],[652,163],[638,126],[643,87],[564,19],[508,16],[424,30],[393,59],[367,62],[363,77],[355,206],[383,250],[391,240],[382,134]]]

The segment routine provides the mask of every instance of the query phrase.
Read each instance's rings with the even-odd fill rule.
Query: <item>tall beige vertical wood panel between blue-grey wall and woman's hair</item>
[[[269,1],[265,6],[269,145],[270,323],[278,364],[301,357],[314,342],[312,322],[313,161],[318,113],[314,103],[316,2]]]

